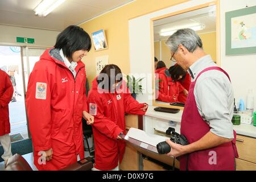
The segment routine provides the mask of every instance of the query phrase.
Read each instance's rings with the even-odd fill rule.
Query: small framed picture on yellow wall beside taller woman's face
[[[105,31],[103,29],[93,32],[92,39],[95,51],[100,51],[108,48]]]

